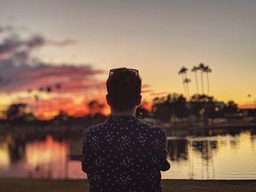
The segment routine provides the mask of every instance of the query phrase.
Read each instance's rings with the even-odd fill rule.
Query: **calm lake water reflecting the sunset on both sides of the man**
[[[85,178],[79,161],[78,138],[0,137],[0,177]],[[169,137],[169,179],[256,179],[256,135],[241,131],[214,137]]]

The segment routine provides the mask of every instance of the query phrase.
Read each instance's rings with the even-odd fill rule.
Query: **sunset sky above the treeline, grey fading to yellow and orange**
[[[1,61],[2,77],[22,75],[19,83],[0,87],[0,105],[28,97],[29,84],[38,88],[42,82],[69,82],[64,99],[71,108],[95,96],[103,101],[109,69],[122,66],[140,71],[144,99],[156,93],[184,93],[179,69],[192,69],[200,62],[212,69],[214,98],[251,104],[256,100],[255,9],[253,0],[0,0],[0,59],[9,54],[4,46],[10,41],[4,40],[15,34],[15,57],[26,63]],[[31,46],[33,41],[37,43]],[[26,58],[21,58],[24,52]],[[59,77],[65,69],[72,75]],[[53,74],[45,70],[58,78],[48,78]],[[195,74],[187,76],[192,80],[190,94],[197,93]],[[74,85],[77,90],[70,91]]]

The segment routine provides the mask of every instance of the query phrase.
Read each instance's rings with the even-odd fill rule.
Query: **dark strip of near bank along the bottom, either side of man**
[[[88,191],[88,180],[0,178],[1,191]],[[256,180],[162,180],[162,191],[256,191]]]

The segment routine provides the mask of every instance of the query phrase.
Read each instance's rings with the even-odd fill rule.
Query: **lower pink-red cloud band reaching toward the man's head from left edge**
[[[20,64],[12,60],[0,61],[0,91],[17,92],[28,89],[51,87],[61,84],[66,93],[86,91],[99,88],[103,82],[97,81],[96,75],[102,70],[94,69],[89,64],[75,66],[74,64]]]

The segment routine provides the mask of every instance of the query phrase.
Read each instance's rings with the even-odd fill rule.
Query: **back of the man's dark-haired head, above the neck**
[[[132,110],[138,104],[141,93],[141,78],[127,68],[116,69],[107,80],[108,98],[118,111]]]

